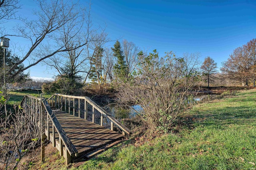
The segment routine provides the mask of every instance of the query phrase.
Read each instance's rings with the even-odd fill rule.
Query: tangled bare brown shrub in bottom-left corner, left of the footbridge
[[[0,169],[16,169],[22,157],[38,145],[41,136],[36,106],[32,106],[28,112],[23,112],[20,106],[14,110],[5,109],[0,115]],[[32,155],[36,154],[32,152]],[[28,165],[22,166],[27,169]]]

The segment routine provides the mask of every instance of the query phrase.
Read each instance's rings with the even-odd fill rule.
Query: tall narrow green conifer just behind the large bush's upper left
[[[111,48],[113,51],[114,57],[117,58],[117,63],[114,65],[114,74],[116,78],[124,79],[127,77],[127,66],[124,61],[123,51],[121,49],[121,44],[119,41],[116,41],[114,48]]]

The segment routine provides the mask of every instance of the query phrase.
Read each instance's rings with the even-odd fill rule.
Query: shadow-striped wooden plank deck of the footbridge
[[[79,156],[124,137],[124,135],[116,131],[106,129],[96,123],[70,115],[56,108],[52,108],[52,111],[66,135],[78,150]],[[51,124],[50,132],[52,133]],[[52,136],[51,133],[50,136]],[[58,139],[58,133],[55,136]]]

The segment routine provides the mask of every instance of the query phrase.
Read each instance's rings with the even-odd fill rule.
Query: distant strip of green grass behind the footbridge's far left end
[[[26,94],[30,96],[35,96],[35,97],[40,97],[41,90],[23,90],[23,91],[18,91],[18,90],[12,90],[8,92],[8,95],[10,96],[10,99],[8,100],[7,104],[8,105],[18,105],[24,98]],[[44,98],[49,98],[51,95],[44,95]]]

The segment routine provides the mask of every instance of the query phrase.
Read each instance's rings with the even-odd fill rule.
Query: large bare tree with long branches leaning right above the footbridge
[[[7,70],[6,74],[9,78],[49,57],[74,51],[92,41],[90,39],[93,31],[90,8],[87,10],[78,2],[64,0],[50,0],[50,2],[36,0],[36,4],[38,5],[34,12],[36,19],[21,19],[22,24],[18,24],[13,29],[16,34],[6,35],[22,37],[30,42],[28,51],[24,52],[20,61]],[[81,32],[84,35],[78,39]],[[10,75],[10,72],[24,61],[29,61],[29,64]]]

